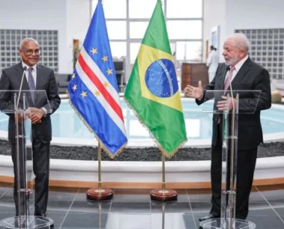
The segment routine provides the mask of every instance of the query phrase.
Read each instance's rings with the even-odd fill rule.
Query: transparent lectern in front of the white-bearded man
[[[238,155],[239,114],[254,113],[261,91],[206,91],[202,111],[213,113],[217,122],[222,123],[222,200],[221,218],[204,220],[200,226],[204,229],[253,229],[256,224],[236,218],[236,172]],[[231,98],[234,106],[229,110]],[[218,101],[226,101],[226,110],[219,111]]]

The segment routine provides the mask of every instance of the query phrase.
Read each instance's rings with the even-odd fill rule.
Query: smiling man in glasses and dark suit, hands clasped
[[[55,81],[53,69],[38,64],[40,58],[40,49],[38,42],[33,38],[25,38],[21,41],[19,55],[22,61],[4,69],[0,78],[0,90],[19,90],[23,75],[23,69],[26,68],[26,74],[23,75],[23,90],[44,90],[45,94],[31,93],[27,96],[29,110],[31,114],[31,141],[33,152],[33,172],[35,174],[35,216],[45,216],[48,204],[48,181],[50,168],[50,141],[51,141],[51,120],[48,113],[52,113],[60,106],[60,96],[58,95],[58,86]],[[46,96],[48,98],[46,98]],[[49,104],[48,104],[49,101]],[[19,107],[23,107],[23,100],[20,99]],[[13,94],[11,92],[0,94],[0,109],[8,111],[14,109]],[[16,216],[18,216],[17,206],[17,167],[16,167],[16,131],[15,115],[9,113],[9,141],[11,142],[11,155],[14,171],[14,200],[16,203]],[[27,117],[26,117],[27,118]],[[18,116],[18,122],[23,121],[22,116]],[[21,125],[20,125],[21,126]],[[21,140],[20,140],[21,141]],[[24,141],[23,141],[24,143]],[[23,147],[20,142],[20,161],[23,160]],[[22,165],[21,165],[22,166]],[[20,169],[21,180],[23,172]],[[21,188],[23,181],[21,181]],[[23,215],[23,203],[21,203],[21,215]]]

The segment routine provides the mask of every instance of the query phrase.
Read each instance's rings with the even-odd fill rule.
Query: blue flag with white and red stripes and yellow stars
[[[123,150],[127,143],[124,116],[101,1],[94,11],[67,91],[70,104],[109,156],[113,158]]]

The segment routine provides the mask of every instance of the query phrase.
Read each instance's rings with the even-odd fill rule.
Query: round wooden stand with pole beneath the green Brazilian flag
[[[177,191],[173,189],[165,189],[165,155],[162,152],[163,162],[163,187],[162,189],[153,189],[150,192],[151,199],[156,201],[173,201],[178,199]]]

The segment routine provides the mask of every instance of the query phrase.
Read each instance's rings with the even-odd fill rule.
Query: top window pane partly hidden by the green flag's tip
[[[156,3],[155,0],[129,0],[129,18],[151,18]]]

